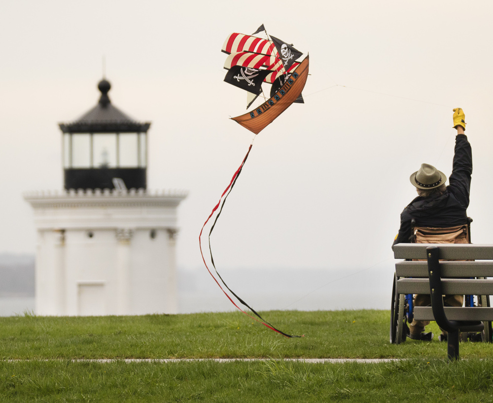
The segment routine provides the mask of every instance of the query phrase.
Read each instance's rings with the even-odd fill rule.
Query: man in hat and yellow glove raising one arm
[[[416,187],[419,196],[402,211],[399,233],[392,246],[396,243],[415,242],[411,224],[413,219],[418,227],[449,228],[467,224],[466,209],[469,205],[472,174],[471,145],[464,134],[465,116],[462,109],[454,109],[453,120],[457,136],[449,186],[445,186],[447,180],[445,174],[429,164],[423,163],[421,168],[411,175],[411,183]],[[444,303],[449,306],[462,306],[463,299],[462,295],[447,295]],[[430,306],[430,304],[428,294],[415,296],[415,306]],[[410,338],[431,340],[433,334],[424,333],[424,326],[427,324],[428,321],[411,322]],[[440,335],[440,341],[445,339],[444,332]]]

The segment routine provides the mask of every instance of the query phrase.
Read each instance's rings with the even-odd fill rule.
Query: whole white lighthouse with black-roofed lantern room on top
[[[60,123],[64,189],[24,195],[34,209],[37,315],[176,313],[177,207],[147,189],[150,122],[95,107]]]

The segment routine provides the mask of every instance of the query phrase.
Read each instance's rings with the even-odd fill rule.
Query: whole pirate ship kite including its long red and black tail
[[[260,31],[265,31],[263,24],[252,35],[257,34]],[[248,105],[246,106],[246,109],[248,109],[248,107],[251,105],[256,97],[263,93],[263,82],[272,84],[270,90],[270,98],[267,99],[262,105],[254,108],[251,112],[247,112],[245,115],[232,118],[256,135],[269,123],[271,123],[272,121],[274,121],[274,119],[281,115],[282,112],[284,112],[293,102],[303,102],[301,91],[305,87],[305,83],[308,77],[308,56],[301,63],[297,62],[296,60],[302,55],[302,53],[296,50],[293,45],[288,45],[282,40],[274,37],[269,37],[267,35],[267,32],[266,35],[268,39],[261,39],[252,35],[237,33],[231,34],[224,42],[222,51],[228,53],[229,55],[226,58],[226,63],[224,64],[224,68],[228,70],[224,81],[247,91]],[[255,136],[253,138],[255,138]],[[221,288],[222,292],[228,297],[228,299],[236,308],[238,308],[240,311],[242,311],[244,314],[248,315],[255,321],[261,322],[268,328],[281,333],[286,337],[301,337],[284,333],[269,322],[265,321],[250,305],[248,305],[242,298],[240,298],[226,284],[226,282],[224,282],[221,275],[217,272],[214,264],[214,258],[212,257],[212,230],[217,223],[217,219],[221,215],[221,211],[224,207],[224,203],[226,202],[227,197],[231,193],[238,177],[240,176],[252,145],[253,140],[248,147],[248,152],[246,153],[246,156],[243,159],[240,167],[236,170],[233,178],[231,179],[231,182],[222,193],[219,202],[217,202],[217,204],[214,206],[211,214],[200,230],[200,253],[209,274],[212,276],[219,288]],[[233,297],[229,295],[228,292],[221,286],[218,279],[214,277],[211,270],[209,269],[209,266],[207,265],[202,250],[201,238],[204,228],[206,227],[214,213],[215,219],[213,220],[213,224],[211,225],[208,239],[211,265],[214,268],[218,279],[224,284],[224,286],[232,294],[232,296],[236,297],[238,302],[248,308],[255,316],[251,316],[246,310],[240,308],[240,306],[233,300]]]

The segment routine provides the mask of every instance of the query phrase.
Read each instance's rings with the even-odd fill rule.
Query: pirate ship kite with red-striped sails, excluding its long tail
[[[263,24],[253,33],[265,31]],[[247,106],[263,93],[262,83],[272,84],[270,98],[244,115],[231,118],[258,134],[293,102],[303,103],[301,91],[308,77],[308,56],[293,45],[265,34],[268,39],[233,33],[226,38],[222,51],[228,54],[224,81],[248,92]],[[264,96],[264,98],[267,98]]]

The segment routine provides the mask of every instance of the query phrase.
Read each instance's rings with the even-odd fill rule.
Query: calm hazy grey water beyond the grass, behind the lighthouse
[[[364,271],[241,269],[223,271],[221,276],[259,311],[389,309],[393,270],[391,266]],[[205,268],[179,271],[179,313],[233,310],[236,308]],[[34,297],[0,297],[0,316],[26,311],[35,311]]]

